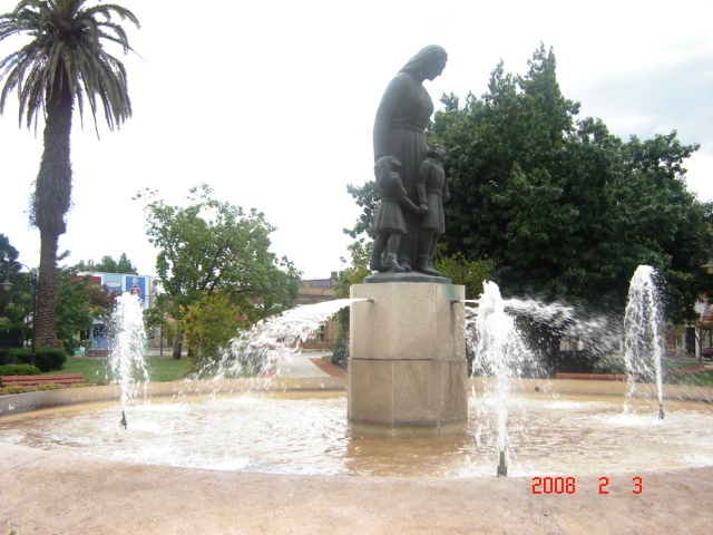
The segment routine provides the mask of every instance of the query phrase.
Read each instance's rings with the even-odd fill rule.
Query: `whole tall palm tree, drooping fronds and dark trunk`
[[[109,129],[131,116],[124,65],[107,54],[114,42],[124,55],[131,51],[118,16],[139,28],[129,10],[116,4],[86,7],[87,0],[23,0],[14,11],[0,16],[0,41],[29,37],[18,51],[0,61],[0,113],[17,89],[20,110],[30,128],[45,119],[43,153],[31,198],[30,222],[40,231],[40,269],[37,318],[39,347],[61,347],[55,332],[57,246],[67,230],[65,215],[71,201],[69,137],[75,100],[84,118],[85,100],[94,117],[97,136],[98,101]],[[97,3],[96,1],[94,3]]]

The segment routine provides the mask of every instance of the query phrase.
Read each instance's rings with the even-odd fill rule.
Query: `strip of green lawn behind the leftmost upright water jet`
[[[146,357],[148,379],[156,382],[175,381],[186,377],[188,361],[175,360],[172,356]],[[87,357],[67,357],[65,367],[50,373],[82,373],[87,382],[96,385],[111,383],[111,369],[107,359]]]

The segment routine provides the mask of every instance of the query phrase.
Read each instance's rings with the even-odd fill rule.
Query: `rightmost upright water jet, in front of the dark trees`
[[[658,418],[664,418],[661,314],[654,284],[656,272],[639,265],[632,278],[624,315],[624,360],[628,372],[627,399],[636,391],[636,378],[655,380],[658,393]],[[628,406],[625,405],[625,411]]]

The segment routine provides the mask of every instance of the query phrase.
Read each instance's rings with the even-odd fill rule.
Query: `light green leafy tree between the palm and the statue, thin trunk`
[[[300,272],[285,256],[270,251],[275,230],[264,214],[211,197],[203,184],[188,193],[185,207],[167,205],[157,193],[143,191],[146,200],[147,235],[158,247],[156,271],[170,298],[167,312],[178,321],[191,305],[206,295],[229,295],[248,322],[294,305]],[[174,343],[179,359],[183,335]]]

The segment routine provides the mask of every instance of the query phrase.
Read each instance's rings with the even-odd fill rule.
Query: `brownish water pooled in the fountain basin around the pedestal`
[[[494,410],[470,399],[468,434],[362,438],[343,393],[154,398],[127,410],[84,403],[0,418],[0,440],[131,463],[267,474],[495,476]],[[509,408],[510,476],[609,476],[713,465],[713,405],[533,395]]]

